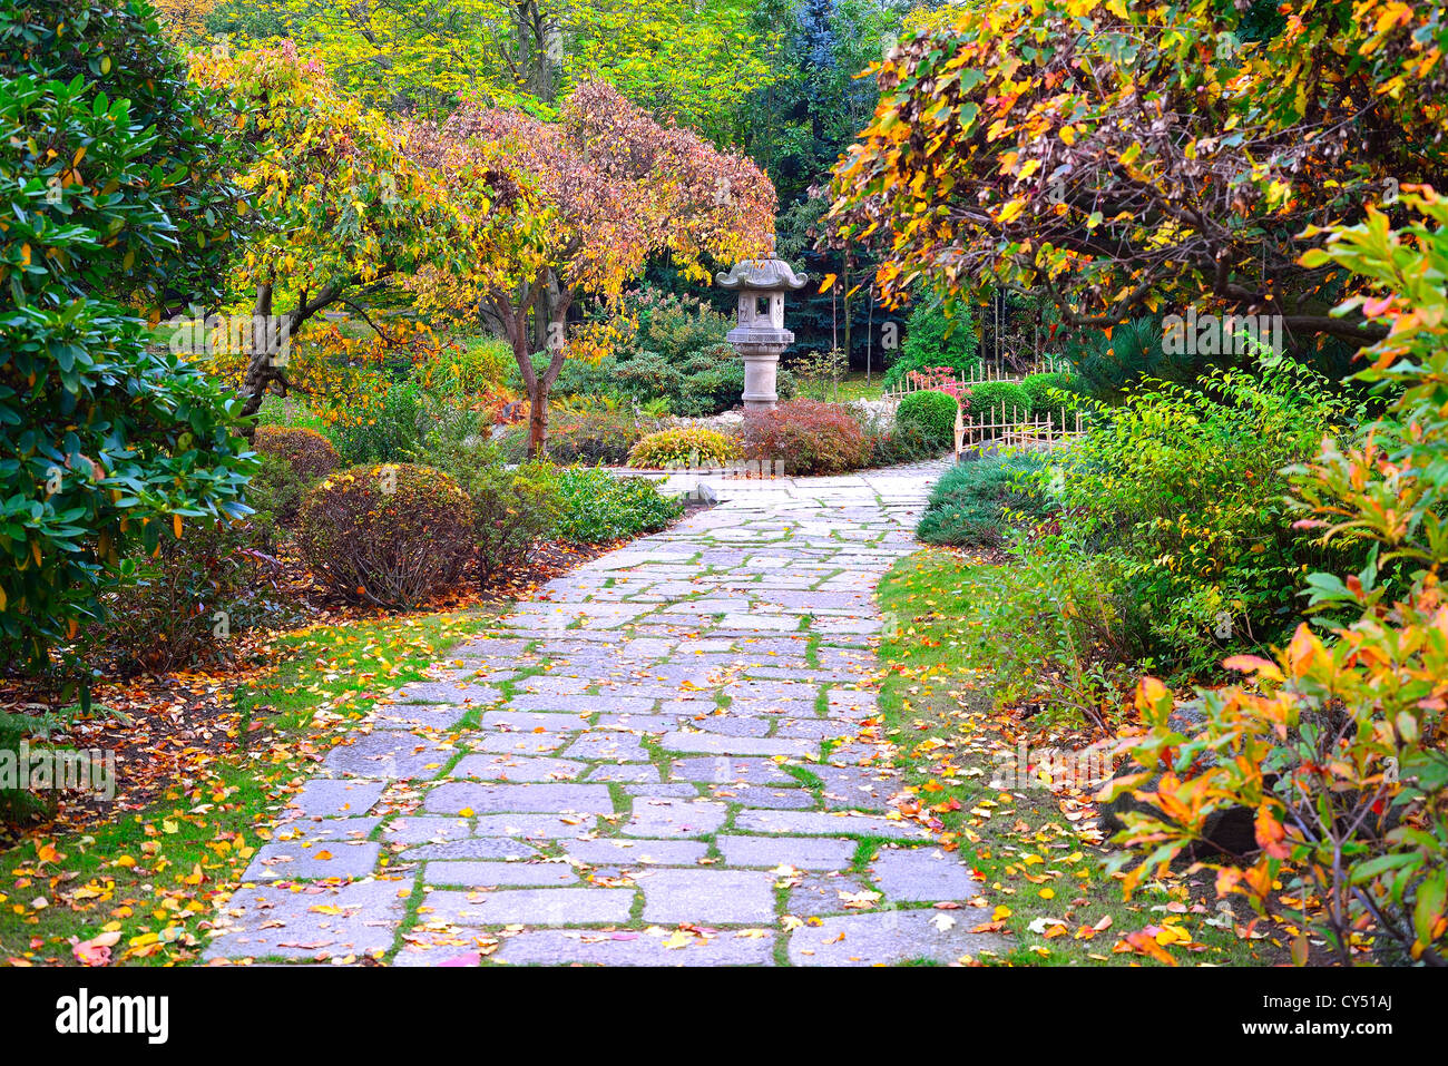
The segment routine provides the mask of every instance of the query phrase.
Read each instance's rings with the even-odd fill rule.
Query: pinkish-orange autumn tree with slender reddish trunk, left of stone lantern
[[[707,281],[704,256],[730,262],[773,242],[775,190],[757,167],[654,122],[604,83],[579,85],[557,122],[468,106],[408,139],[449,182],[466,233],[465,265],[420,272],[420,307],[501,324],[527,385],[533,455],[546,450],[549,390],[582,346],[568,336],[579,295],[617,297],[650,255]]]

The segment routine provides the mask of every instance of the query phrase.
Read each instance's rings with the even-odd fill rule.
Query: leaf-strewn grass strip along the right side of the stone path
[[[999,766],[992,752],[1012,750],[1019,739],[1032,747],[1053,740],[1072,747],[1079,737],[1070,723],[1058,723],[1053,736],[1051,727],[998,710],[986,684],[989,663],[966,659],[960,618],[972,584],[989,572],[970,556],[927,549],[886,575],[880,607],[893,613],[896,630],[880,645],[880,708],[896,765],[919,804],[917,817],[934,820],[943,843],[959,849],[980,884],[975,902],[990,908],[992,927],[1019,944],[998,962],[1277,962],[1284,939],[1266,924],[1248,934],[1241,905],[1235,920],[1219,911],[1211,870],[1173,870],[1124,901],[1103,869],[1116,852],[1089,828],[1089,791],[990,786]]]

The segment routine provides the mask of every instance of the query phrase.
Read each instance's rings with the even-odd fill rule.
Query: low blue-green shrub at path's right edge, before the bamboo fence
[[[915,534],[931,545],[999,547],[1011,527],[1051,510],[1043,487],[1028,479],[1045,465],[1032,452],[959,463],[935,484]]]

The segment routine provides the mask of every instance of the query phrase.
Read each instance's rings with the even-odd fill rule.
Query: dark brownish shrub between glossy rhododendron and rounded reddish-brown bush
[[[278,565],[252,521],[182,526],[152,556],[126,559],[100,621],[81,630],[85,659],[119,675],[235,662],[248,629],[275,624]]]

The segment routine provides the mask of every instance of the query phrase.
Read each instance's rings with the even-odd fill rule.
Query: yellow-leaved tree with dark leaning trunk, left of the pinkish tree
[[[229,278],[255,326],[237,382],[249,416],[291,388],[287,356],[308,322],[337,306],[366,317],[369,290],[446,248],[452,216],[398,130],[290,42],[197,52],[193,74],[230,96],[232,136],[252,148],[235,174],[251,229]]]

